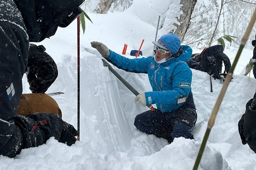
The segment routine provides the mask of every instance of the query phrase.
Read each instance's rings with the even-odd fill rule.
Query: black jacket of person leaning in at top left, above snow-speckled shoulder
[[[14,0],[24,20],[29,41],[41,42],[53,36],[60,22],[84,0]]]

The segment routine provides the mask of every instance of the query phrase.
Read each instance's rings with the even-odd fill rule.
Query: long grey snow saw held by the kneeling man
[[[136,89],[132,87],[116,70],[111,67],[111,65],[105,60],[102,59],[103,65],[108,66],[109,71],[111,71],[134,95],[140,94]],[[151,111],[154,111],[154,107],[152,105],[146,105]]]

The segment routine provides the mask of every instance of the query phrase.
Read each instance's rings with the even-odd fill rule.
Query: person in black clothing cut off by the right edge
[[[253,74],[256,79],[256,35],[255,40],[252,41],[253,57],[252,63]],[[246,103],[245,113],[238,122],[238,132],[242,140],[242,144],[248,144],[249,147],[256,153],[256,92],[252,99]]]

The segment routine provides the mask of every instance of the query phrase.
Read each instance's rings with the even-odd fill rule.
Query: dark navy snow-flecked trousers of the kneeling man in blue
[[[134,125],[140,131],[165,138],[169,143],[174,138],[194,139],[190,131],[196,124],[195,109],[182,109],[162,113],[160,110],[146,111],[135,117]]]

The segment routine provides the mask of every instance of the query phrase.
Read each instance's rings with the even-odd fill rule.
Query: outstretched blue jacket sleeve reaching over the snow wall
[[[129,59],[118,53],[115,53],[114,51],[109,50],[109,52],[110,55],[106,59],[119,69],[133,73],[148,72],[148,62],[150,62],[151,57]]]

